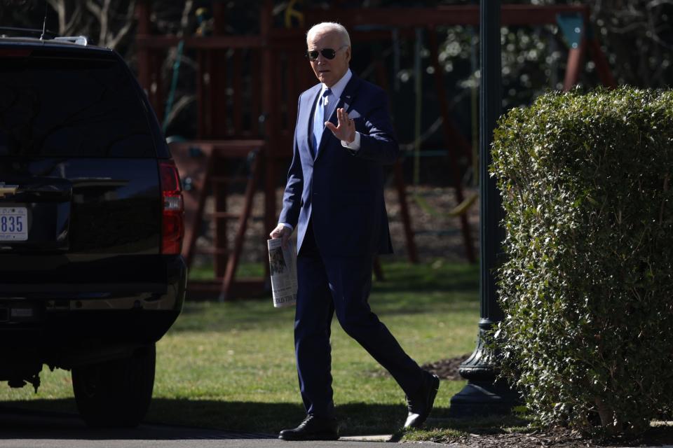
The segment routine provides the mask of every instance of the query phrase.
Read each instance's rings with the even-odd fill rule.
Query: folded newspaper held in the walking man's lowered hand
[[[287,241],[287,248],[283,248],[282,243],[282,238],[267,241],[273,306],[276,308],[297,302],[297,254],[292,241]]]

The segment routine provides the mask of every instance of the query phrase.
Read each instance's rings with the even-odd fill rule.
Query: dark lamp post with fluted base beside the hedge
[[[503,311],[496,302],[496,255],[504,239],[498,223],[503,217],[500,193],[489,176],[493,131],[502,110],[500,0],[480,0],[480,296],[481,318],[477,348],[461,364],[461,376],[468,379],[462,391],[451,398],[451,416],[506,414],[517,395],[496,381],[496,365],[484,347],[485,333],[501,321]]]

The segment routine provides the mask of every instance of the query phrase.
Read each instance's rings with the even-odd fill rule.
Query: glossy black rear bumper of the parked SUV
[[[5,359],[69,369],[154,344],[175,322],[185,297],[184,260],[166,258],[166,268],[168,281],[161,284],[1,285]]]

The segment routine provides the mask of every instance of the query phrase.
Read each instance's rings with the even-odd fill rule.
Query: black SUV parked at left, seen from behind
[[[116,52],[0,34],[0,381],[72,370],[86,423],[135,426],[184,302],[177,169]]]

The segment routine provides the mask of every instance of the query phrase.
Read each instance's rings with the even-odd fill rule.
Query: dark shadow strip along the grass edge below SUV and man
[[[435,408],[433,415],[447,414],[447,410]],[[400,434],[407,416],[404,405],[350,403],[337,406],[336,412],[339,433],[344,436]],[[150,439],[156,437],[153,425],[276,435],[281,429],[297,426],[304,416],[304,407],[291,403],[154,398],[144,424],[136,430],[89,430],[76,414],[73,399],[11,401],[0,402],[0,439],[15,438],[17,433],[26,438],[41,438],[45,433],[69,438],[81,430],[88,432],[74,438]]]

